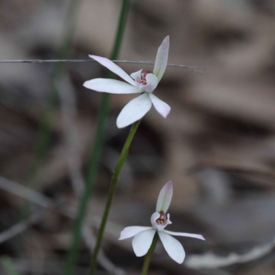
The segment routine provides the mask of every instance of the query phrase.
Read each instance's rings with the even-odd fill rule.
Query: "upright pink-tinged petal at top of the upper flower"
[[[158,80],[162,79],[164,75],[167,60],[168,60],[168,52],[169,52],[169,36],[166,36],[162,45],[159,46],[157,50],[157,57],[155,58],[155,67],[153,70],[153,74],[157,76]]]

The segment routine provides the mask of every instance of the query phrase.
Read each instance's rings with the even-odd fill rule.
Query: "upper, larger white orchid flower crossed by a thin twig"
[[[118,128],[126,127],[140,118],[151,109],[152,103],[164,118],[170,113],[170,106],[153,95],[153,91],[157,87],[157,84],[162,79],[165,72],[169,50],[169,36],[166,36],[162,45],[159,46],[157,50],[157,57],[155,59],[155,67],[153,72],[144,72],[142,69],[135,72],[129,76],[123,71],[118,65],[115,65],[112,61],[107,58],[100,56],[89,55],[89,57],[94,58],[104,67],[107,67],[111,72],[117,74],[127,83],[120,80],[96,78],[86,81],[83,85],[88,89],[94,91],[103,91],[111,94],[137,94],[142,93],[137,98],[131,100],[122,109],[118,115],[116,124]]]

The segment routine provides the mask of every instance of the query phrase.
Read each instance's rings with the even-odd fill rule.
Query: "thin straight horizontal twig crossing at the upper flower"
[[[85,62],[96,62],[93,59],[17,59],[17,60],[0,60],[0,63],[85,63]],[[155,65],[155,61],[113,61],[113,63],[126,63],[126,64],[145,64]],[[187,66],[179,64],[167,64],[168,67],[176,67],[182,69],[190,69],[190,71],[203,74],[204,68],[196,66]]]

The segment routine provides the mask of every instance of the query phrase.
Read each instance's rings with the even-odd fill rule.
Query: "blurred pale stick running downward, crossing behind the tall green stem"
[[[69,175],[72,181],[72,187],[77,197],[80,197],[84,187],[85,179],[81,173],[81,160],[80,152],[78,148],[78,134],[76,131],[76,98],[74,88],[68,77],[64,76],[56,84],[56,90],[58,91],[58,96],[61,101],[61,114],[63,117],[63,133],[65,137],[65,142],[67,146],[67,165],[69,170]],[[96,245],[96,239],[91,232],[91,228],[85,225],[83,227],[83,238],[90,252],[94,252]],[[115,267],[111,261],[105,256],[103,251],[100,251],[98,256],[98,262],[111,274],[115,275],[125,275],[126,272],[120,270],[120,268]]]

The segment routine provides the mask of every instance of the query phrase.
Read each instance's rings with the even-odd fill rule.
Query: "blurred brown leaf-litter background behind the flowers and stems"
[[[69,58],[109,56],[120,3],[80,3]],[[68,1],[0,1],[0,59],[56,58],[67,5]],[[159,190],[170,179],[173,224],[168,229],[203,234],[207,241],[177,238],[187,254],[183,265],[157,246],[150,274],[274,274],[274,31],[272,0],[131,1],[121,60],[154,61],[157,47],[170,35],[169,63],[206,70],[198,74],[166,69],[155,93],[172,110],[164,120],[152,108],[137,131],[113,201],[103,245],[107,258],[98,274],[111,274],[112,263],[122,268],[115,274],[139,274],[142,259],[133,254],[131,240],[119,242],[118,236],[125,226],[150,224]],[[85,89],[83,83],[104,76],[104,68],[67,63],[58,80],[65,102],[61,100],[52,115],[45,157],[33,172],[54,66],[0,64],[0,230],[7,233],[12,225],[25,225],[8,239],[0,233],[0,253],[11,257],[19,274],[61,274],[73,223],[59,206],[77,205],[72,177],[87,170],[96,127],[100,94]],[[152,68],[121,67],[129,74]],[[96,233],[111,171],[129,131],[117,129],[115,120],[133,97],[111,96],[106,142],[89,208],[95,217],[94,230],[87,229],[89,236]],[[26,206],[30,199],[20,186],[50,197],[59,208],[45,211],[34,199]],[[25,220],[24,209],[34,221],[27,218],[20,223]],[[89,258],[89,240],[84,239],[76,274],[87,273]],[[5,268],[1,274],[7,274]]]

